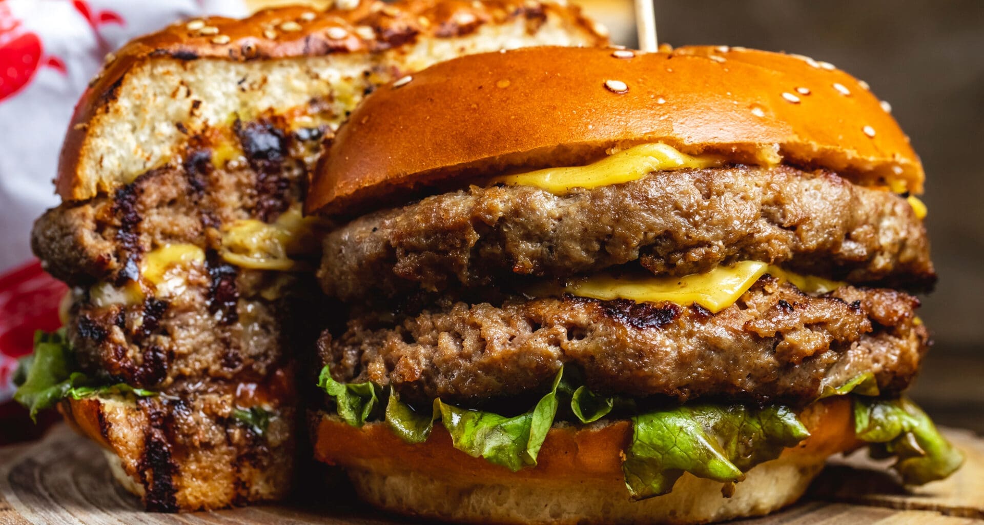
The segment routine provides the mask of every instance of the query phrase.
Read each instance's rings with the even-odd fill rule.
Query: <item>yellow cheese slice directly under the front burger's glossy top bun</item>
[[[563,195],[574,188],[597,188],[645,177],[652,171],[704,168],[723,164],[717,156],[692,157],[665,144],[643,144],[610,155],[594,164],[549,167],[537,171],[503,175],[493,184],[534,186]]]

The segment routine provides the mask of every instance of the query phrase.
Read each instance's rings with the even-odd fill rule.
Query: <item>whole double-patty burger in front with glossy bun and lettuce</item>
[[[365,98],[308,214],[339,225],[315,456],[461,522],[761,515],[832,454],[961,454],[904,396],[936,279],[924,171],[813,59],[533,47]]]

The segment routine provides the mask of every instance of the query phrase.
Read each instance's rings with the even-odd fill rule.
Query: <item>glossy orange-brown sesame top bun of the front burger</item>
[[[485,53],[384,87],[339,130],[306,210],[352,214],[442,179],[574,165],[643,142],[922,190],[922,164],[892,115],[829,64],[709,46],[620,56],[559,47]],[[618,92],[619,83],[628,90]]]

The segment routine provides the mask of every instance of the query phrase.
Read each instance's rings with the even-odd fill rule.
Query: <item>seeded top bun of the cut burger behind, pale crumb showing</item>
[[[106,57],[69,125],[56,189],[65,201],[112,191],[180,164],[185,143],[235,119],[272,112],[297,128],[334,126],[367,85],[437,60],[605,42],[577,7],[523,0],[361,0],[179,22]]]

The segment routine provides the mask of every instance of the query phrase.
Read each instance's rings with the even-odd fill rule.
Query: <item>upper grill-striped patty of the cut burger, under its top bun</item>
[[[301,199],[307,171],[299,159],[313,155],[324,131],[290,133],[285,125],[277,118],[237,122],[245,162],[217,162],[214,150],[222,145],[200,142],[179,167],[154,169],[112,195],[48,210],[31,231],[34,253],[66,283],[116,281],[121,273],[132,278],[133,265],[155,248],[218,249],[222,225],[276,220]]]

